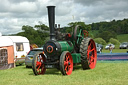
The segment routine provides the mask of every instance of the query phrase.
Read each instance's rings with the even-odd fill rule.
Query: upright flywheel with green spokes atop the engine
[[[74,40],[75,40],[75,50],[79,52],[80,43],[84,38],[83,29],[81,26],[77,25],[74,29]]]

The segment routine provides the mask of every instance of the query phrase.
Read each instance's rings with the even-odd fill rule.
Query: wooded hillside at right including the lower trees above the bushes
[[[117,35],[128,34],[128,19],[92,23],[91,30],[98,31],[94,38],[100,37],[109,42],[110,38],[117,39]]]

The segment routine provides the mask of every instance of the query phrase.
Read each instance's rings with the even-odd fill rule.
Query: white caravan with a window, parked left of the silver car
[[[30,44],[29,40],[26,37],[22,36],[0,36],[1,43],[0,48],[2,48],[2,45],[5,46],[9,43],[12,44],[13,47],[13,55],[14,55],[14,63],[16,65],[21,65],[25,62],[25,56],[30,51]],[[9,41],[9,42],[7,42]],[[9,50],[8,50],[9,51]]]

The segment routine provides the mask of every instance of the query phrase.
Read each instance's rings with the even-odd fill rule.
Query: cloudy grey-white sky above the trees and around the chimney
[[[55,7],[55,23],[91,24],[128,18],[128,0],[0,0],[0,32],[3,35],[22,31],[23,25],[48,26],[47,6]]]

